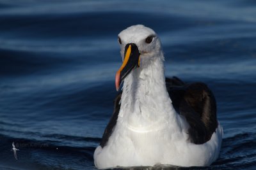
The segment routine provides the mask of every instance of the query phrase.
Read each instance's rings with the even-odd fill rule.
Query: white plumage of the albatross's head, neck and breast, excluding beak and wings
[[[189,125],[175,112],[166,90],[159,38],[145,43],[151,34],[156,35],[143,25],[134,25],[119,34],[122,57],[124,46],[135,43],[141,52],[141,64],[124,80],[118,120],[107,145],[95,150],[95,166],[99,169],[156,164],[208,166],[220,153],[220,124],[207,143],[189,143]]]

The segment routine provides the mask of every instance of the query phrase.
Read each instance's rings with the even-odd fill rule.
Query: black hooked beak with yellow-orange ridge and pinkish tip
[[[134,67],[140,67],[140,52],[136,44],[127,44],[125,46],[124,56],[124,62],[116,72],[116,91],[119,90],[120,84],[132,69]]]

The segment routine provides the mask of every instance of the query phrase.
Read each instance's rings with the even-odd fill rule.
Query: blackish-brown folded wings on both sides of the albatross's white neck
[[[183,115],[190,125],[189,141],[202,144],[211,139],[218,122],[216,101],[211,90],[204,83],[186,84],[177,77],[166,78],[166,88],[177,113]],[[114,111],[102,136],[103,148],[111,136],[120,111],[122,92],[115,98]]]

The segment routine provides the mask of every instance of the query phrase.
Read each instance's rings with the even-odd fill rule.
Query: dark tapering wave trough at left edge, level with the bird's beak
[[[3,77],[31,75],[44,71],[54,71],[58,67],[70,64],[71,59],[44,56],[43,53],[22,52],[0,49],[0,75]],[[64,69],[64,68],[63,68]]]

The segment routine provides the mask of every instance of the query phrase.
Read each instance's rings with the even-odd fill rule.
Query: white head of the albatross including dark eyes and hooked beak
[[[156,32],[144,25],[132,25],[118,34],[123,64],[116,73],[116,90],[133,69],[143,69],[148,62],[161,57],[161,41]],[[139,68],[140,67],[140,68]]]

